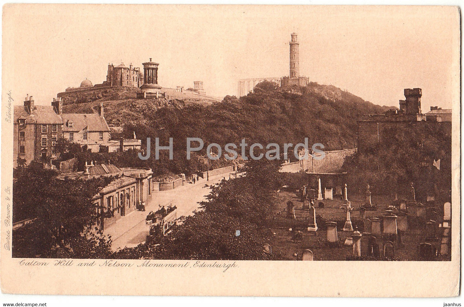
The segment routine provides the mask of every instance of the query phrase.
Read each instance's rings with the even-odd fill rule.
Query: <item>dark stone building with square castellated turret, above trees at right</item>
[[[384,114],[361,115],[357,120],[358,152],[366,152],[378,143],[392,141],[395,137],[392,128],[417,127],[420,130],[442,130],[451,135],[451,110],[432,107],[432,111],[423,114],[420,107],[422,89],[405,88],[406,100],[400,100],[400,110],[389,110]],[[448,114],[448,115],[447,115]]]

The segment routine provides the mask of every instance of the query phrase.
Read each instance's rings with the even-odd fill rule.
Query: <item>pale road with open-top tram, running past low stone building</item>
[[[200,178],[196,183],[186,182],[183,186],[174,190],[152,192],[145,201],[145,211],[133,211],[104,230],[104,233],[111,235],[111,249],[117,251],[124,247],[135,247],[145,242],[149,226],[145,224],[145,218],[150,211],[156,211],[159,205],[167,207],[168,205],[177,207],[177,216],[192,215],[193,211],[200,207],[199,202],[206,200],[206,195],[211,192],[210,187],[219,183],[223,177],[229,179],[229,174],[210,176],[209,181]]]

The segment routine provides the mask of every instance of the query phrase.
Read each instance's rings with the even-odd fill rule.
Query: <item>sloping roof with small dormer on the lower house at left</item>
[[[79,132],[88,127],[89,132],[110,132],[110,127],[106,123],[104,117],[97,113],[78,114],[78,113],[63,113],[63,132]],[[68,121],[73,122],[72,128],[68,127]]]

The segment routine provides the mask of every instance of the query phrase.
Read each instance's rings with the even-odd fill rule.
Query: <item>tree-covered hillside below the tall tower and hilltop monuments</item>
[[[310,83],[308,87],[277,88],[262,82],[255,93],[221,102],[183,100],[111,100],[64,106],[64,112],[97,112],[103,101],[109,124],[124,125],[137,136],[174,137],[185,142],[199,137],[205,142],[238,144],[242,138],[261,144],[322,143],[328,149],[355,146],[358,114],[379,114],[391,107],[376,106],[334,86]],[[182,143],[185,147],[185,143]]]

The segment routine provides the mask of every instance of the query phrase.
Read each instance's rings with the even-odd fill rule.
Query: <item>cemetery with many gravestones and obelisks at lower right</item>
[[[329,190],[329,191],[328,191]],[[335,190],[335,194],[332,192]],[[268,220],[273,260],[450,261],[451,203],[411,193],[349,194],[348,187],[278,191]]]

